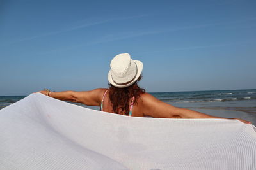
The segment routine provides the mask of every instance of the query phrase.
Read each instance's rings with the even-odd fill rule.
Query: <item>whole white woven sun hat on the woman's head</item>
[[[120,53],[111,60],[110,68],[109,83],[115,87],[124,88],[132,85],[139,78],[143,63],[132,60],[129,53]]]

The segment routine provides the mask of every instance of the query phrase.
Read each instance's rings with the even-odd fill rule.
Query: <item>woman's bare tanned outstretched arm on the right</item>
[[[142,95],[143,99],[143,113],[144,115],[157,118],[223,118],[214,117],[198,111],[189,110],[186,108],[177,108],[170,104],[164,103],[156,97],[145,93]],[[240,118],[225,118],[225,119],[237,119],[246,124],[250,122],[242,120]]]

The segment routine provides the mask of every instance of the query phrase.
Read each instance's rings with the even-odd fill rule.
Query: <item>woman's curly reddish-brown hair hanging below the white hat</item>
[[[145,93],[145,89],[138,86],[138,81],[140,81],[142,76],[138,78],[129,87],[118,88],[109,83],[109,99],[113,106],[114,113],[120,113],[122,115],[129,115],[129,106],[132,97],[134,96],[134,104],[137,104],[140,94]]]

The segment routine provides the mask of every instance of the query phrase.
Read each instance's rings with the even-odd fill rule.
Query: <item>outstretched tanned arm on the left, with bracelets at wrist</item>
[[[90,91],[76,92],[76,91],[63,91],[51,92],[51,97],[63,101],[72,101],[83,103],[88,106],[100,106],[101,98],[106,89],[94,89]],[[47,95],[47,91],[40,91],[40,93]]]

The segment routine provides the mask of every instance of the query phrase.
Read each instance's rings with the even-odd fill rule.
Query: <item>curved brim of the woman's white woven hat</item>
[[[137,66],[137,74],[134,78],[134,80],[132,80],[130,83],[127,83],[125,85],[118,85],[116,84],[113,79],[112,79],[112,76],[111,76],[111,70],[108,72],[108,81],[109,83],[111,83],[111,85],[115,86],[115,87],[118,87],[118,88],[124,88],[124,87],[128,87],[130,85],[132,85],[133,83],[135,83],[136,80],[138,80],[138,78],[140,77],[141,75],[141,72],[143,70],[143,63],[139,60],[134,60],[134,62],[136,63],[136,66]]]

